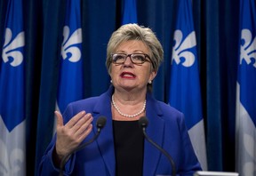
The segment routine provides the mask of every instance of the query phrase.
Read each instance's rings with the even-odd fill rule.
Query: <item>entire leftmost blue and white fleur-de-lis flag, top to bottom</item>
[[[25,34],[22,0],[9,0],[0,60],[0,175],[26,175]]]

